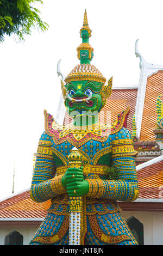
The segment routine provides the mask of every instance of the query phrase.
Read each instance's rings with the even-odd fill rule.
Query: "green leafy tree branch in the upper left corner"
[[[35,3],[43,4],[43,1],[0,1],[0,42],[4,41],[5,34],[9,36],[15,34],[19,41],[24,41],[24,35],[31,34],[32,28],[40,29],[42,32],[48,29],[48,24],[39,16],[40,10],[34,7]]]

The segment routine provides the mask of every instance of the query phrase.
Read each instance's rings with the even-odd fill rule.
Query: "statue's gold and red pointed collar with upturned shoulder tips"
[[[105,142],[109,135],[112,135],[127,126],[127,117],[129,114],[129,107],[126,111],[122,111],[118,114],[117,119],[113,124],[101,125],[95,124],[92,126],[86,126],[82,129],[78,129],[74,125],[58,125],[53,116],[44,111],[45,115],[45,131],[49,136],[53,137],[55,144],[61,144],[65,141],[70,142],[74,147],[80,147],[91,139],[99,142]]]

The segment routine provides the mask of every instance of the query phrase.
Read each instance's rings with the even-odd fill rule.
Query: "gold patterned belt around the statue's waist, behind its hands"
[[[67,168],[69,168],[69,166],[61,166],[56,168],[56,172],[57,172],[57,176],[64,174],[67,170]],[[85,164],[85,166],[83,167],[83,174],[89,174],[89,173],[93,173],[93,174],[104,174],[107,175],[108,174],[108,167],[107,166],[94,166],[93,164]]]

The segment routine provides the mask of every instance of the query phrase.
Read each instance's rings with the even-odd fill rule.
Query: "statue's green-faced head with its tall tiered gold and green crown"
[[[86,10],[80,36],[82,44],[77,48],[80,64],[66,76],[65,86],[63,82],[61,83],[65,106],[68,113],[71,111],[82,113],[85,110],[99,112],[111,94],[112,77],[105,86],[106,78],[95,66],[90,64],[93,48],[89,44],[91,29],[88,26]]]

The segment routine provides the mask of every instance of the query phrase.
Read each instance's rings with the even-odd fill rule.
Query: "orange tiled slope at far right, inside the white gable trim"
[[[156,100],[163,93],[163,70],[147,79],[146,96],[143,107],[140,141],[155,141],[153,130],[156,127]]]

